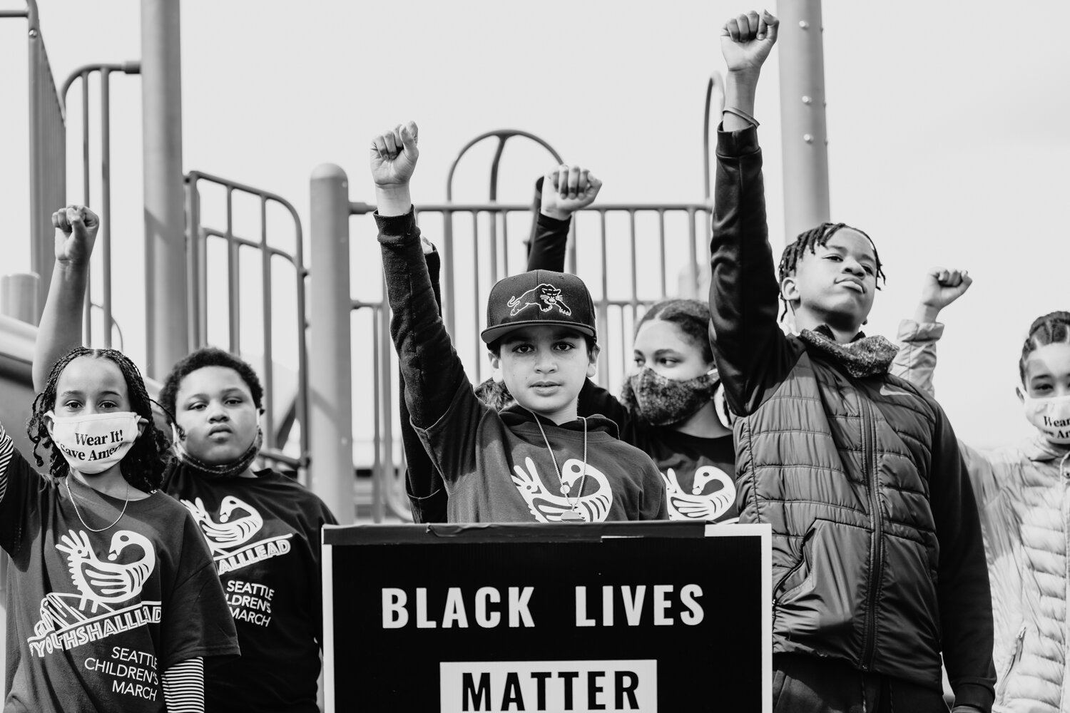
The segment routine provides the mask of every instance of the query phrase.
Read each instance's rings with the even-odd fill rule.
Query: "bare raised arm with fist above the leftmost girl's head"
[[[33,346],[33,388],[45,388],[52,365],[81,345],[81,314],[89,280],[89,258],[101,219],[83,205],[68,205],[52,214],[56,265]]]

